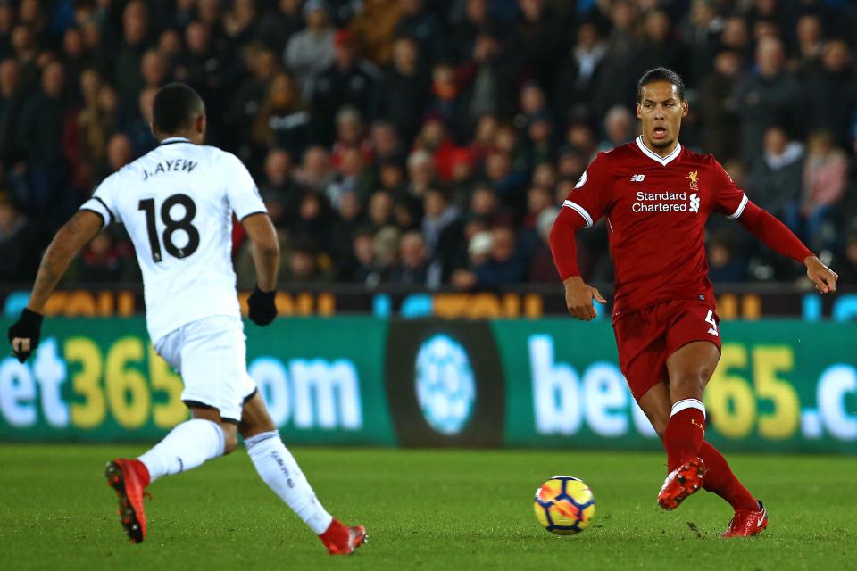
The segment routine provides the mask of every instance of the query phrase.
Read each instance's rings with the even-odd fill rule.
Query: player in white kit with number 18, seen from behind
[[[161,145],[104,179],[48,246],[21,319],[9,328],[21,362],[35,351],[41,312],[79,250],[113,222],[128,230],[143,272],[146,326],[155,350],[184,383],[193,418],[138,459],[107,464],[120,521],[131,542],[146,538],[143,496],[161,476],[196,468],[237,447],[237,434],[262,480],[301,517],[332,555],[366,541],[321,506],[279,437],[262,395],[246,371],[244,326],[230,257],[232,215],[253,243],[258,285],[249,316],[268,325],[274,305],[279,242],[245,166],[231,153],[204,146],[205,108],[184,84],[154,98],[152,129]]]

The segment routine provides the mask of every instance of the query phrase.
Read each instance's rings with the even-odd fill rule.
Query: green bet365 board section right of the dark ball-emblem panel
[[[507,445],[661,447],[619,370],[611,327],[540,319],[492,329]],[[711,443],[857,452],[857,325],[724,321],[720,332],[720,364],[705,390]]]

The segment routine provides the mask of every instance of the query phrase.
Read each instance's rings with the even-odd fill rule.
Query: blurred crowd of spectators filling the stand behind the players
[[[857,5],[846,0],[0,0],[0,282],[157,144],[158,87],[203,96],[254,174],[293,283],[555,283],[547,235],[636,84],[686,80],[684,145],[857,279]],[[800,270],[712,219],[715,282]],[[235,232],[239,285],[252,286]],[[579,235],[592,281],[603,229]],[[137,277],[121,227],[69,279]]]

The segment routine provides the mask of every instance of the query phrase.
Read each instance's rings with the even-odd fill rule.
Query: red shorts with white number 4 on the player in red
[[[710,341],[720,351],[719,324],[714,306],[695,300],[657,303],[616,321],[619,368],[634,398],[667,380],[667,358],[683,345]]]

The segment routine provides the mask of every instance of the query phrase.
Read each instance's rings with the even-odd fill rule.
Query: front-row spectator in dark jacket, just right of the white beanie
[[[487,260],[473,264],[470,269],[455,271],[452,284],[459,289],[497,289],[522,282],[527,271],[527,264],[518,252],[515,231],[500,226],[491,231]]]

